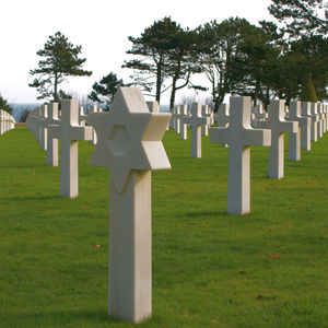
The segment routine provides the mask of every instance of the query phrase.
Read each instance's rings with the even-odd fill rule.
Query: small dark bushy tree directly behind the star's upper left
[[[128,84],[125,84],[121,79],[118,80],[117,75],[110,72],[92,85],[93,91],[87,97],[95,103],[104,104],[105,110],[108,110],[119,86],[128,86]]]

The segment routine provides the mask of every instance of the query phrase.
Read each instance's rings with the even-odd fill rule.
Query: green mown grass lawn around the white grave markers
[[[153,315],[140,327],[328,327],[328,137],[267,177],[251,148],[251,212],[226,214],[229,149],[202,159],[166,132],[152,174]],[[79,142],[79,197],[59,197],[26,128],[0,136],[0,327],[132,327],[107,318],[109,174]]]

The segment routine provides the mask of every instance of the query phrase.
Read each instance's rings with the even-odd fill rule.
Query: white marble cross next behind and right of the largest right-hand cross
[[[271,130],[268,175],[273,179],[280,179],[283,177],[283,133],[296,133],[298,130],[298,122],[286,121],[284,119],[284,101],[271,101],[268,109],[268,120],[257,122],[257,127]]]

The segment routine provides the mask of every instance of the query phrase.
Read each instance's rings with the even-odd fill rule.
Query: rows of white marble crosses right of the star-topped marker
[[[171,126],[186,140],[187,124],[191,125],[191,157],[201,157],[201,128],[211,126],[212,114],[199,103],[192,104],[190,114],[183,108],[175,108]],[[291,102],[286,108],[284,101],[271,101],[265,113],[261,106],[251,107],[249,97],[231,97],[230,107],[222,104],[213,117],[218,128],[210,128],[210,142],[230,147],[227,212],[232,214],[250,211],[250,145],[270,147],[268,176],[280,179],[284,133],[290,133],[289,160],[300,161],[301,149],[311,150],[311,141],[328,128],[328,106],[308,102]]]

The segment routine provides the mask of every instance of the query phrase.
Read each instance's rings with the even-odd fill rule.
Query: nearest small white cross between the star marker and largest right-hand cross
[[[191,157],[201,157],[201,127],[208,124],[209,118],[201,116],[201,104],[192,103],[191,116],[186,116],[184,121],[191,125]]]

